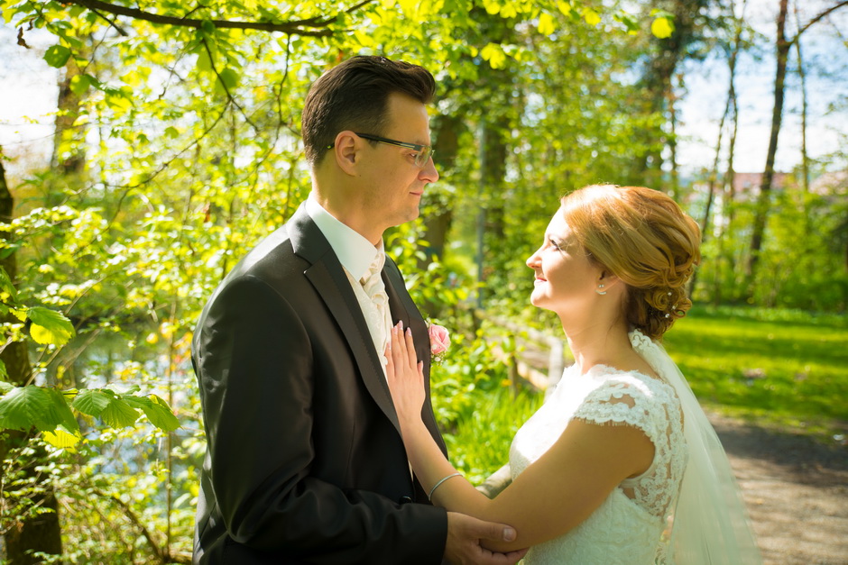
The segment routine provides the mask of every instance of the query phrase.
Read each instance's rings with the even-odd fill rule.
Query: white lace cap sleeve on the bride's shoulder
[[[659,441],[656,398],[644,383],[636,378],[611,378],[585,397],[574,417],[591,424],[631,425]]]

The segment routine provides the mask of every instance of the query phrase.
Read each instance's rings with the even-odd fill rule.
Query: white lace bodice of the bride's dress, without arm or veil
[[[558,387],[512,441],[512,478],[548,451],[569,422],[631,425],[654,444],[654,460],[639,477],[613,489],[582,524],[533,547],[526,565],[653,565],[665,563],[663,536],[686,469],[687,445],[674,389],[658,378],[603,365],[581,375],[566,369]]]

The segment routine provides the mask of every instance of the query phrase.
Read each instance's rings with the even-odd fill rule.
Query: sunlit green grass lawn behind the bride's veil
[[[848,425],[845,316],[696,307],[665,345],[706,408],[816,434]]]

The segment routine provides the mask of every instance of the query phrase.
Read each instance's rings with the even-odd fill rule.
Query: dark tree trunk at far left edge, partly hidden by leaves
[[[2,156],[2,150],[0,150],[0,156]],[[3,159],[0,159],[0,223],[10,223],[13,212],[14,197],[6,183]],[[0,237],[8,238],[9,232],[3,231]],[[17,273],[17,260],[14,252],[9,253],[4,259],[0,260],[0,266],[5,269],[9,274],[9,278],[14,281]],[[17,320],[15,319],[15,321]],[[0,352],[0,360],[3,360],[5,363],[9,382],[12,384],[23,386],[32,378],[32,366],[30,365],[29,353],[25,342],[9,343]],[[8,469],[5,465],[5,458],[8,452],[14,448],[23,447],[30,439],[30,433],[23,432],[11,432],[8,433],[8,437],[5,440],[0,439],[0,461],[4,461],[4,470]],[[21,465],[24,478],[34,482],[35,492],[28,496],[32,502],[32,506],[41,507],[51,512],[45,512],[20,520],[5,532],[6,560],[4,562],[8,563],[8,565],[34,565],[35,563],[42,562],[40,558],[32,557],[32,551],[41,551],[52,555],[60,555],[62,552],[59,505],[56,502],[55,493],[49,482],[49,477],[45,477],[37,470],[37,468],[45,463],[46,453],[36,444],[33,444],[32,447],[35,449],[32,456],[28,460],[19,460],[16,463]],[[0,480],[3,479],[5,477],[0,478]],[[24,480],[22,482],[28,481]],[[13,492],[15,487],[0,483],[0,488],[5,488],[3,492]],[[5,510],[4,507],[4,513]]]

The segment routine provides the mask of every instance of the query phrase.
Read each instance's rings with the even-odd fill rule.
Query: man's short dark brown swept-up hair
[[[388,99],[400,93],[429,104],[436,80],[426,68],[385,57],[357,56],[330,68],[309,88],[303,107],[306,159],[318,165],[338,132],[383,135]]]

